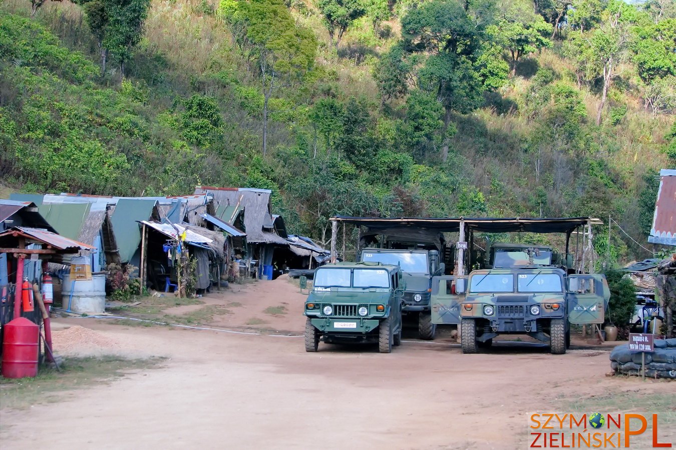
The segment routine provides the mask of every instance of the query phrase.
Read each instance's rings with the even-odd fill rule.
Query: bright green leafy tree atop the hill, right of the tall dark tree
[[[507,3],[500,11],[500,18],[491,34],[498,43],[509,52],[512,63],[512,76],[516,73],[516,63],[523,55],[533,53],[543,47],[551,47],[548,38],[552,25],[533,11],[533,7],[525,0]]]

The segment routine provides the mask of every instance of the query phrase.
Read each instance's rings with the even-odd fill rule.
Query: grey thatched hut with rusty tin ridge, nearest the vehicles
[[[237,214],[244,210],[243,231],[247,233],[246,254],[240,255],[248,275],[272,275],[272,266],[281,267],[279,249],[288,249],[289,242],[274,228],[272,204],[267,189],[215,188],[197,186],[195,194],[208,194],[213,198],[216,216]]]

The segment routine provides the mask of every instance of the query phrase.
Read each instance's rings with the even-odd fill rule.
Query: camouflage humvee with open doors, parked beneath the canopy
[[[602,323],[610,298],[604,275],[566,277],[556,266],[482,269],[470,273],[467,284],[460,304],[463,353],[490,347],[498,335],[527,334],[549,342],[552,354],[564,354],[570,324]]]

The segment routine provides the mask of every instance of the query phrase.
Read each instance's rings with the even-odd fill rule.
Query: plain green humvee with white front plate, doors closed
[[[400,266],[379,262],[338,262],[319,267],[305,302],[305,349],[324,342],[377,341],[381,353],[402,343]]]

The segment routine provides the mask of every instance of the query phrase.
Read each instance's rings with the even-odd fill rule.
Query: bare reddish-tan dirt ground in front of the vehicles
[[[579,410],[614,395],[676,399],[676,383],[606,376],[610,347],[552,356],[547,347],[500,343],[463,355],[448,333],[432,343],[409,333],[392,354],[324,343],[306,353],[304,298],[280,279],[164,310],[218,306],[226,312],[209,327],[235,333],[54,319],[64,356],[167,359],[66,391],[56,403],[1,409],[2,448],[517,449],[527,447],[532,412]],[[68,333],[83,335],[82,345],[67,345]]]

